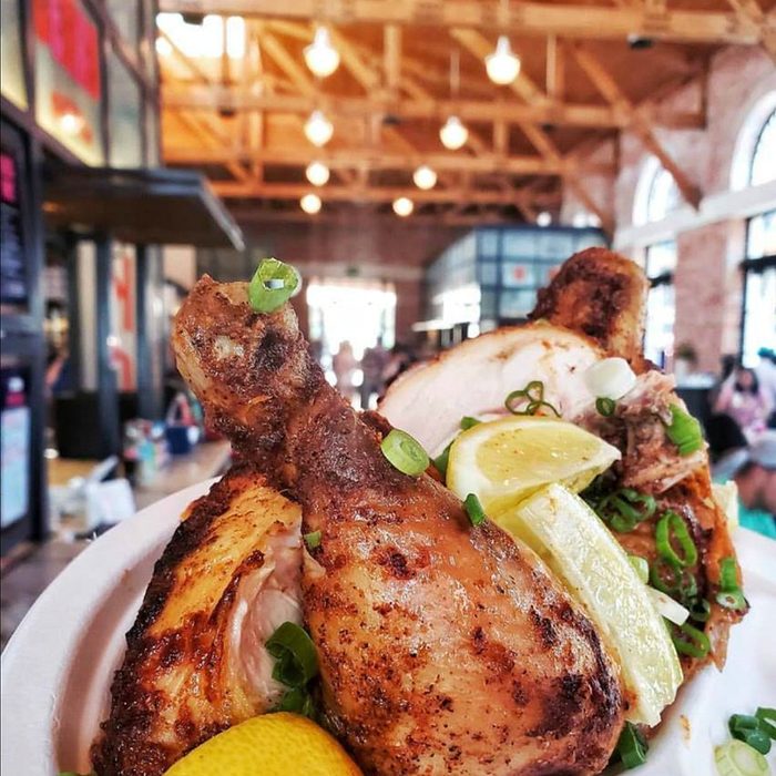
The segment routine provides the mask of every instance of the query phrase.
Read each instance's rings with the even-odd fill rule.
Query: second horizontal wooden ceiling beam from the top
[[[266,51],[265,47],[265,51]],[[407,76],[402,78],[402,89]],[[310,85],[310,88],[313,88]],[[589,105],[576,103],[554,103],[548,99],[534,104],[521,104],[513,101],[481,101],[481,100],[436,100],[417,82],[411,89],[418,99],[399,98],[389,100],[379,94],[368,98],[344,98],[321,93],[316,95],[305,88],[302,94],[264,93],[246,95],[237,90],[212,85],[188,84],[162,88],[162,103],[165,108],[184,110],[218,110],[231,111],[274,111],[278,113],[308,114],[315,108],[329,111],[331,115],[364,118],[376,113],[398,116],[406,120],[431,119],[445,121],[455,113],[461,121],[508,123],[529,122],[534,124],[555,124],[569,126],[588,126],[600,129],[622,129],[630,125],[627,112],[613,109],[611,105]],[[703,116],[688,112],[655,112],[655,121],[671,129],[700,129]]]

